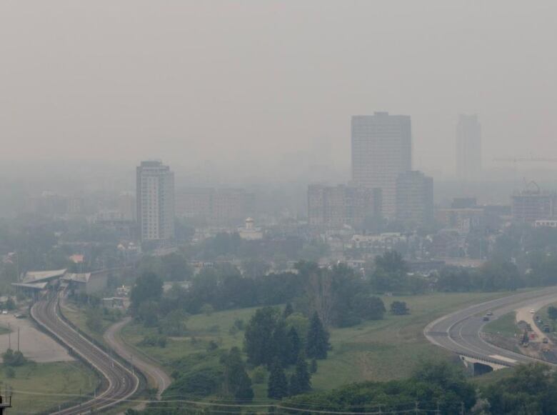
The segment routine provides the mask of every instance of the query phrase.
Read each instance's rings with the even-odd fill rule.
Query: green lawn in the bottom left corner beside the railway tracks
[[[57,409],[59,404],[81,394],[93,394],[99,381],[93,371],[77,361],[30,363],[14,368],[16,376],[8,378],[6,369],[0,370],[0,388],[13,391],[12,409],[7,414],[34,414]],[[56,396],[60,394],[61,396]]]

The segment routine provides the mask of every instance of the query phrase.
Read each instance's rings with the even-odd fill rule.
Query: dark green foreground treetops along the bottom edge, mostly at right
[[[511,369],[508,369],[511,370]],[[245,381],[238,381],[241,385]],[[200,385],[201,386],[201,385]],[[177,398],[174,394],[166,397]],[[186,415],[203,409],[211,411],[252,411],[244,407],[226,406],[226,401],[214,399],[197,408],[188,404],[157,403],[156,408],[142,411],[145,415]],[[395,381],[366,381],[342,386],[333,391],[285,397],[269,411],[287,414],[371,412],[377,414],[474,414],[474,415],[557,415],[557,376],[543,364],[518,366],[498,381],[477,386],[463,369],[446,362],[420,364],[408,379]],[[139,414],[133,411],[130,414]]]

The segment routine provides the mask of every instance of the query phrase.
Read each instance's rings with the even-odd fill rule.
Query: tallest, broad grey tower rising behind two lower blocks
[[[381,189],[384,216],[395,216],[396,178],[411,169],[410,116],[376,112],[352,117],[352,181]]]

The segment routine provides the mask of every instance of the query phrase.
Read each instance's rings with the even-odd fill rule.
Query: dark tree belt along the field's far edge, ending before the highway
[[[312,262],[299,262],[296,267],[297,274],[248,278],[225,264],[201,271],[189,289],[175,284],[164,296],[161,276],[146,272],[139,276],[131,291],[131,310],[147,326],[156,326],[159,320],[176,312],[199,314],[286,302],[305,316],[317,312],[326,326],[352,326],[383,318],[386,312],[383,301],[371,295],[371,284],[348,266],[323,268]]]

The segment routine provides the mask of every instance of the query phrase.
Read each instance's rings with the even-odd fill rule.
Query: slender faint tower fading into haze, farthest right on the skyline
[[[456,177],[460,181],[481,179],[481,124],[476,114],[458,116]]]

